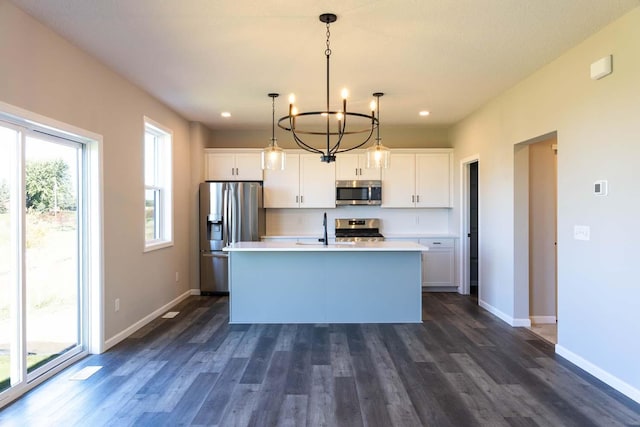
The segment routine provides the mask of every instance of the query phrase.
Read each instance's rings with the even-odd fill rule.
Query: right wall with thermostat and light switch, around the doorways
[[[639,51],[636,8],[485,105],[452,133],[456,162],[477,153],[481,159],[481,297],[517,320],[528,317],[528,303],[522,304],[528,284],[514,274],[514,145],[557,131],[557,351],[636,400]],[[609,54],[613,74],[591,80],[589,65]],[[609,180],[609,196],[593,195],[598,179]],[[591,227],[590,241],[574,240],[576,224]]]

